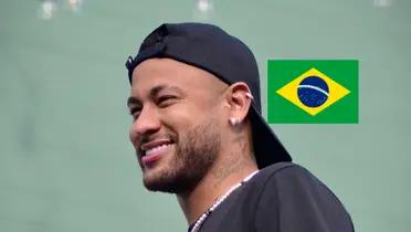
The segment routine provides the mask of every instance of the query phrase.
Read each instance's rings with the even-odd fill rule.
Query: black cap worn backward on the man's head
[[[204,23],[165,23],[141,43],[137,55],[128,57],[128,80],[143,61],[169,57],[205,70],[231,85],[245,82],[254,97],[249,113],[259,168],[292,158],[261,115],[259,67],[251,50],[219,27]]]

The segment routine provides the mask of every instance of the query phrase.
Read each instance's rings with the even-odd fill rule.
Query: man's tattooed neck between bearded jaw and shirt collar
[[[225,160],[225,165],[211,168],[192,191],[177,196],[188,224],[194,223],[219,197],[257,170],[254,160],[231,157],[236,160]]]

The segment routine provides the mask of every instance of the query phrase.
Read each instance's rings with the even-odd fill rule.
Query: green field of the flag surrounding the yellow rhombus
[[[315,116],[276,92],[315,67],[350,93]],[[267,62],[267,120],[274,124],[356,124],[358,123],[358,61],[281,60]]]

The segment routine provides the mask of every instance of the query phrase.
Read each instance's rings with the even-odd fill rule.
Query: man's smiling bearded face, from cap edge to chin
[[[170,59],[149,59],[135,68],[129,137],[147,189],[183,193],[210,170],[220,151],[225,87]]]

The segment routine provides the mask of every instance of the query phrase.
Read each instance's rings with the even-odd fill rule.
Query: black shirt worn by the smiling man
[[[314,175],[278,162],[234,190],[200,231],[352,232],[354,225],[341,202]]]

